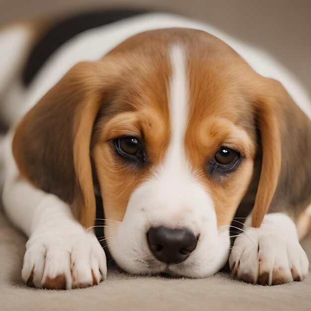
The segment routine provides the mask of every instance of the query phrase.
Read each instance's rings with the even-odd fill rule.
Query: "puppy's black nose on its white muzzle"
[[[147,233],[149,246],[159,261],[178,263],[186,260],[197,246],[197,238],[187,229],[151,228]]]

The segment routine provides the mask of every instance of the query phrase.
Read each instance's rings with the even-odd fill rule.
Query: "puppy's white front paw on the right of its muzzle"
[[[295,225],[283,216],[287,217],[282,215],[277,219],[273,215],[260,228],[243,228],[245,233],[235,239],[229,258],[230,269],[236,278],[261,285],[305,278],[309,269],[308,257],[298,241]],[[284,226],[279,230],[278,224],[282,222]]]

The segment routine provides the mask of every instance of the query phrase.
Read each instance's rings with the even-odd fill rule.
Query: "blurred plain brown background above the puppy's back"
[[[214,25],[268,51],[311,94],[311,0],[0,0],[0,25],[115,7],[168,11]]]

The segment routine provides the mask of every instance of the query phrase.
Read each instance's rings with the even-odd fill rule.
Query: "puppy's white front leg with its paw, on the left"
[[[10,144],[7,137],[2,201],[9,219],[29,237],[22,279],[51,289],[98,284],[106,277],[106,257],[95,234],[82,228],[68,204],[19,176]]]

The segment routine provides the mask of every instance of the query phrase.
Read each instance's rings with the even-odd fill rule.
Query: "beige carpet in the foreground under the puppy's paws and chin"
[[[0,310],[310,311],[311,274],[304,282],[255,286],[227,273],[206,279],[138,277],[109,265],[107,280],[72,291],[26,287],[20,278],[26,237],[0,211]],[[311,260],[311,234],[303,241]]]

